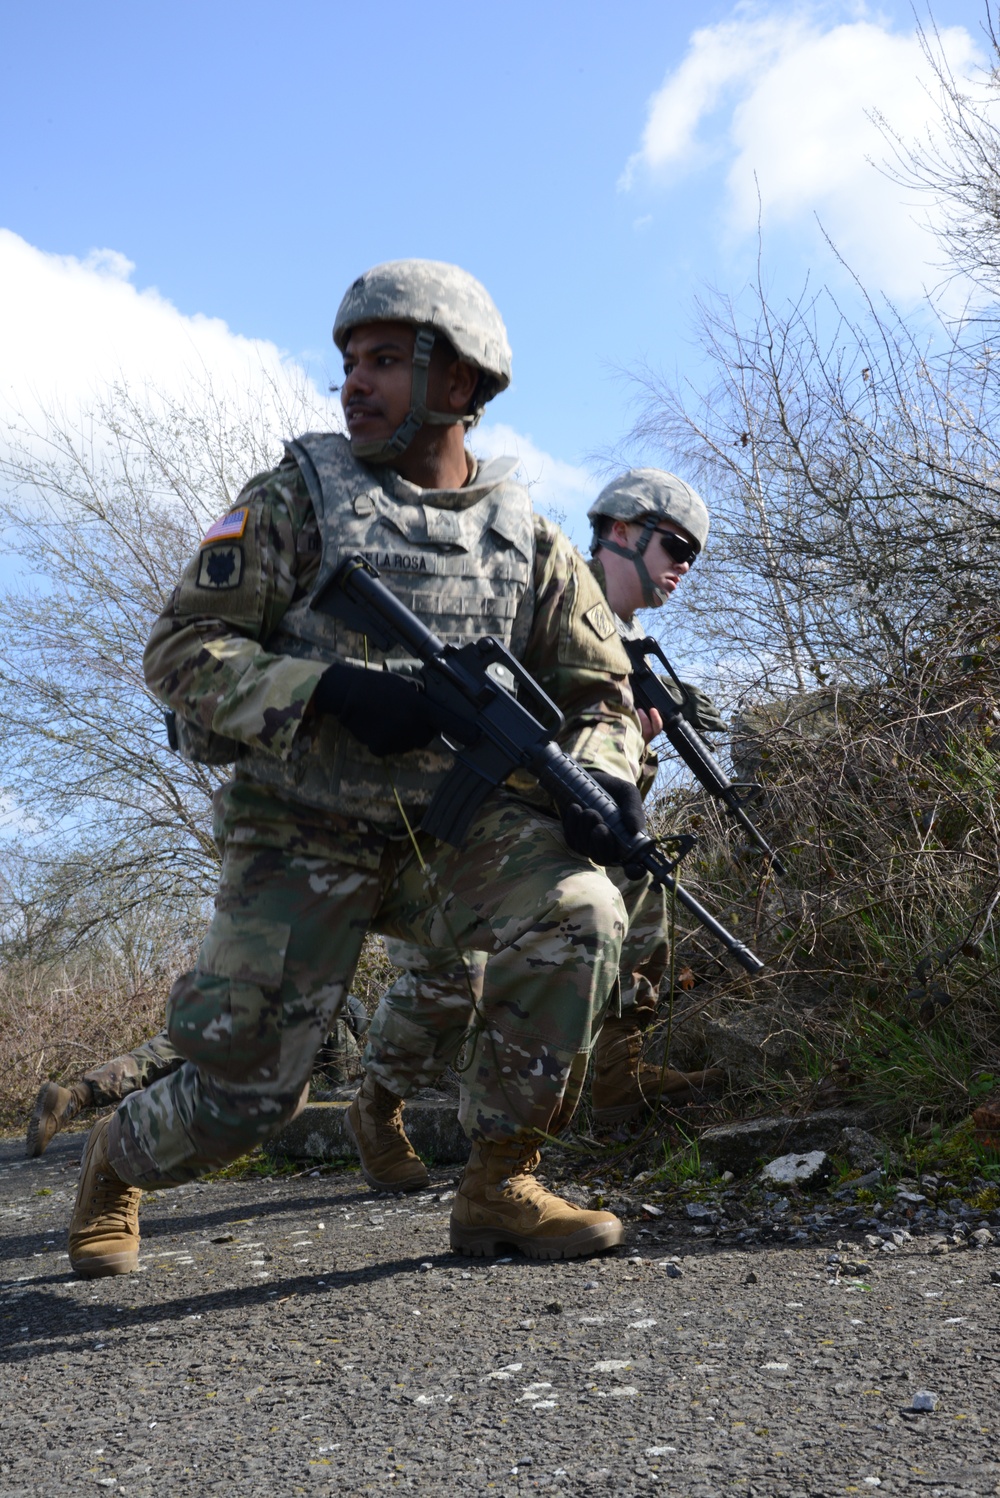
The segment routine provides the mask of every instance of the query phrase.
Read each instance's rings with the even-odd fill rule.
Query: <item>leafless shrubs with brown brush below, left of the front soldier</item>
[[[115,386],[4,434],[0,523],[0,1118],[160,1029],[219,875],[223,773],[166,743],[142,680],[154,617],[280,439],[326,422],[311,392],[184,401]]]

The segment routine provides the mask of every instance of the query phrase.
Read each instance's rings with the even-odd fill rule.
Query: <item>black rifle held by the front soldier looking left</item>
[[[461,734],[454,727],[448,730],[449,742],[461,737],[463,743],[455,746],[455,768],[439,786],[421,822],[422,831],[460,846],[490,791],[513,770],[528,770],[557,806],[575,803],[596,810],[615,834],[624,866],[641,866],[656,884],[672,890],[747,972],[760,972],[760,959],[677,882],[678,860],[671,861],[647,833],[630,833],[612,797],[554,742],[563,715],[499,640],[443,644],[361,556],[341,563],[313,607],[367,635],[379,650],[401,646],[415,656],[422,665],[428,700],[442,709],[449,725],[463,725]],[[507,673],[516,697],[501,685]],[[692,843],[690,837],[681,839],[683,852]]]

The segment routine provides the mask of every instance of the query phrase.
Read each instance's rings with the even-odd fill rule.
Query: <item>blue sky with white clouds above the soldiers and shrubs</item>
[[[981,6],[934,18],[972,66]],[[169,382],[178,339],[228,377],[259,340],[322,385],[359,270],[449,259],[513,346],[484,443],[521,451],[579,539],[591,455],[629,427],[614,369],[696,377],[693,300],[753,274],[757,192],[778,297],[841,274],[816,214],[901,304],[934,279],[865,162],[865,109],[933,117],[913,27],[904,0],[7,6],[0,400]]]

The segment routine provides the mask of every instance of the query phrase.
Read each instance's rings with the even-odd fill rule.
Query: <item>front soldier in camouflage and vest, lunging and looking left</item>
[[[436,634],[497,635],[563,710],[561,746],[638,830],[627,658],[513,463],[476,464],[464,448],[463,428],[510,379],[484,288],[430,261],[376,267],[347,291],[334,339],[349,437],[298,437],[247,484],[147,646],[147,682],[189,752],[237,768],[214,803],[216,915],[168,1005],[187,1061],[91,1131],[70,1224],[81,1275],[136,1267],[141,1188],[192,1180],[287,1121],[368,929],[488,953],[452,1246],[555,1258],[621,1240],[611,1213],[533,1176],[540,1135],[572,1116],[618,972],[626,912],[593,861],[617,842],[578,806],[555,815],[524,776],[484,801],[463,848],[416,831],[454,762],[439,733],[457,727],[398,652],[310,605],[361,551]]]

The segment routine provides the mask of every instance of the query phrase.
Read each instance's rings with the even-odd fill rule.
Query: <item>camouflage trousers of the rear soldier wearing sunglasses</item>
[[[647,1025],[669,963],[666,896],[620,869],[609,870],[609,878],[629,921],[621,945],[621,1014]],[[469,1053],[463,1050],[482,1023],[487,953],[413,947],[392,938],[386,951],[403,971],[371,1017],[364,1068],[389,1092],[409,1098],[433,1088],[448,1067],[464,1073]]]

